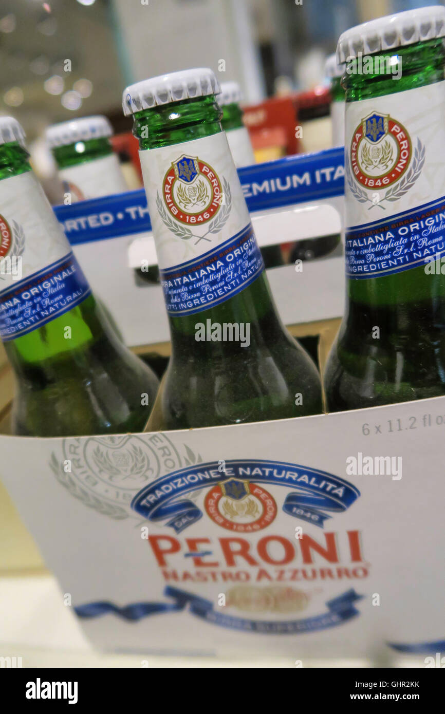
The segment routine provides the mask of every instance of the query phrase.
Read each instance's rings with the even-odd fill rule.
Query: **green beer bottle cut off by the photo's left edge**
[[[0,118],[0,337],[16,377],[12,430],[141,431],[157,378],[116,337],[31,171],[21,126]]]

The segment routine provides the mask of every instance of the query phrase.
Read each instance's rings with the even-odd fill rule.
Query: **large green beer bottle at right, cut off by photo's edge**
[[[444,36],[435,6],[339,39],[347,296],[324,375],[329,411],[445,394]]]

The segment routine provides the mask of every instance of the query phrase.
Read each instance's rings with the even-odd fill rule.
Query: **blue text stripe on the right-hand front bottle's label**
[[[445,251],[445,196],[346,231],[346,275],[356,280],[426,266]]]

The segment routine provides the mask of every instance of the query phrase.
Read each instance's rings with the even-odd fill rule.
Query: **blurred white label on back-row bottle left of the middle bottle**
[[[72,203],[129,190],[116,154],[60,169],[59,176]]]

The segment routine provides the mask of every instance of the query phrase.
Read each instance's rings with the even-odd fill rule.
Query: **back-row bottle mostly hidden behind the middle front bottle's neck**
[[[255,163],[254,149],[250,142],[249,131],[243,124],[241,89],[237,82],[222,82],[221,92],[216,97],[223,114],[221,126],[226,132],[229,149],[237,169]]]

